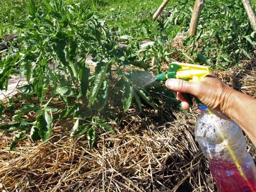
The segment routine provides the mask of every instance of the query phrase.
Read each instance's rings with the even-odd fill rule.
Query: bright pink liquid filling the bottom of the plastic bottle
[[[241,168],[247,180],[241,176],[235,164],[210,161],[209,169],[219,192],[256,192],[255,167],[241,164]]]

